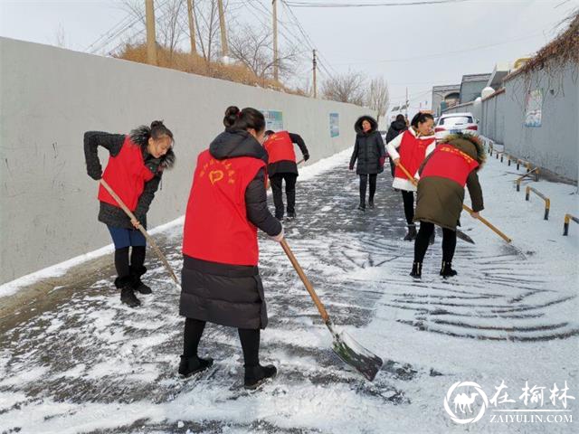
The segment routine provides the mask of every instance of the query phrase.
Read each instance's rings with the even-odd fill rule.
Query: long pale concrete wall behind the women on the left
[[[227,106],[282,111],[310,162],[352,146],[353,124],[368,111],[5,38],[0,65],[0,283],[109,244],[97,184],[86,175],[84,131],[128,133],[154,119],[173,130],[177,165],[149,211],[154,227],[185,212],[196,155],[223,130]],[[339,137],[330,137],[331,112]]]

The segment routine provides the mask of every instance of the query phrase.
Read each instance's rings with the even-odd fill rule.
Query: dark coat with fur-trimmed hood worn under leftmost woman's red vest
[[[155,193],[161,183],[163,170],[175,165],[175,154],[169,149],[165,156],[155,158],[147,152],[148,133],[147,127],[138,127],[131,131],[130,139],[140,146],[145,165],[155,176],[145,183],[143,193],[138,198],[137,208],[133,212],[138,222],[147,229],[147,212]],[[87,165],[87,173],[94,180],[102,177],[102,167],[99,160],[99,146],[109,151],[110,156],[118,156],[126,136],[124,134],[109,134],[101,131],[87,131],[84,133],[84,156]],[[134,229],[128,215],[118,206],[100,202],[99,222],[117,228]]]

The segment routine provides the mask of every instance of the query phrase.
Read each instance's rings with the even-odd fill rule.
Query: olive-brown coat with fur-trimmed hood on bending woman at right
[[[481,211],[484,206],[477,174],[480,165],[485,160],[484,148],[477,137],[470,135],[450,135],[441,141],[441,144],[443,143],[448,143],[458,148],[479,163],[479,167],[472,170],[468,175],[466,186],[469,189],[472,210],[474,212]],[[432,155],[424,159],[419,169],[419,174],[422,174]],[[422,178],[418,183],[414,222],[431,222],[442,228],[456,231],[457,225],[460,225],[460,212],[462,211],[463,202],[464,187],[457,182],[441,176]]]

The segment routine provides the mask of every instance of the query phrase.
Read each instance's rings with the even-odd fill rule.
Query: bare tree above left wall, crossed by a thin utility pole
[[[273,48],[270,29],[258,29],[248,24],[231,33],[229,50],[233,59],[241,61],[257,77],[265,80],[273,75]],[[278,52],[280,77],[287,77],[296,60],[296,50],[284,48]]]

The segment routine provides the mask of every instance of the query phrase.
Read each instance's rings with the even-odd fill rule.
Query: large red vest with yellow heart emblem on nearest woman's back
[[[199,154],[189,194],[183,253],[191,258],[256,266],[257,228],[247,220],[245,189],[265,163],[249,156],[217,160]]]

